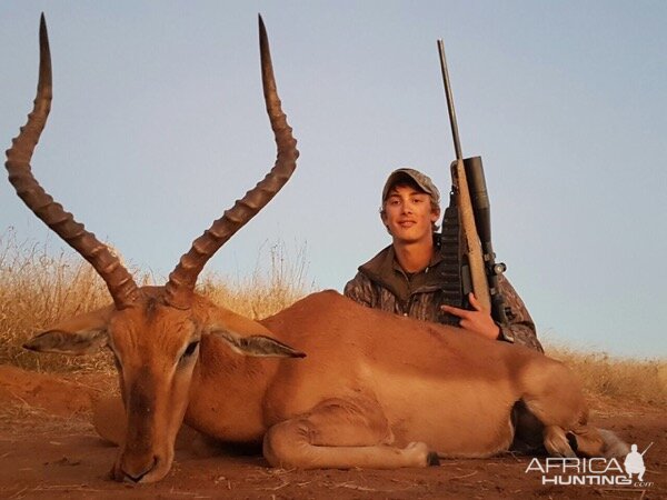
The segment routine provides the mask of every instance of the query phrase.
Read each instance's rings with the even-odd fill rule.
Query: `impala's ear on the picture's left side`
[[[113,306],[109,306],[62,321],[33,337],[23,348],[74,356],[97,352],[107,346],[107,327],[115,310]]]

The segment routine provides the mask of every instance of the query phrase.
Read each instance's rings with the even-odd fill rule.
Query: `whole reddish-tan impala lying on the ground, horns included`
[[[362,308],[332,291],[261,321],[195,291],[208,259],[296,167],[261,18],[259,30],[276,164],[193,241],[165,287],[138,287],[31,173],[52,97],[41,19],[37,98],[7,151],[9,180],[30,210],[92,264],[113,303],[56,324],[26,347],[113,351],[125,421],[122,432],[107,436],[119,443],[115,479],[163,478],[183,421],[219,440],[263,443],[273,467],[303,469],[426,467],[438,458],[489,457],[518,438],[560,457],[623,452],[621,441],[588,424],[573,373],[531,350]]]

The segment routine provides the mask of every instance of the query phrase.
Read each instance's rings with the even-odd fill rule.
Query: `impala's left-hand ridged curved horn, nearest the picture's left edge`
[[[12,140],[11,148],[7,150],[4,166],[9,172],[9,181],[28,208],[92,264],[107,283],[116,308],[125,309],[132,304],[139,293],[132,276],[104,243],[88,232],[71,213],[64,211],[61,204],[53,201],[53,198],[34,179],[30,168],[30,159],[47,124],[53,97],[51,53],[43,13],[39,27],[39,82],[34,106],[32,112],[28,114],[28,122]]]

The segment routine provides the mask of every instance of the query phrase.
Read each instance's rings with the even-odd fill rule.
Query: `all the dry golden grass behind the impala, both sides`
[[[306,248],[288,251],[279,242],[260,249],[249,277],[205,274],[199,291],[216,303],[251,318],[266,318],[313,291],[308,282]],[[148,284],[147,276],[138,282]],[[73,314],[109,303],[102,280],[79,256],[52,257],[47,246],[19,241],[13,231],[0,234],[0,363],[51,371],[112,371],[107,352],[89,357],[36,354],[21,344],[36,332]],[[549,347],[584,380],[591,398],[667,408],[667,363],[611,358]]]

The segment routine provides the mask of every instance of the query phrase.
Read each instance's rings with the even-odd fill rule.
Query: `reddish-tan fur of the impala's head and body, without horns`
[[[571,372],[520,346],[362,308],[331,291],[261,322],[200,297],[189,311],[153,307],[151,319],[136,310],[110,321],[131,437],[115,466],[118,479],[163,477],[183,413],[186,423],[215,439],[263,441],[273,467],[425,467],[429,451],[492,456],[512,442],[517,401],[549,452],[574,453],[567,433],[580,438],[579,452],[604,452]],[[241,357],[206,334],[211,326],[270,334],[307,357]],[[193,368],[173,369],[179,350],[197,336]]]

